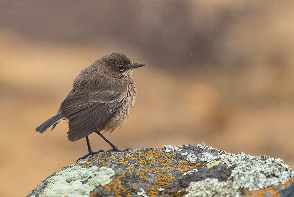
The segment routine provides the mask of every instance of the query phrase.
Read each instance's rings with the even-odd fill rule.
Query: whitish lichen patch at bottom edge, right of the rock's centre
[[[202,181],[191,182],[185,190],[184,197],[238,197],[241,192],[232,186],[232,181],[218,181],[217,178],[206,178]]]

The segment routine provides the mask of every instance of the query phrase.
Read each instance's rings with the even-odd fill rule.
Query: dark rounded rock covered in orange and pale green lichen
[[[101,153],[53,173],[28,196],[282,196],[294,172],[281,159],[196,145]]]

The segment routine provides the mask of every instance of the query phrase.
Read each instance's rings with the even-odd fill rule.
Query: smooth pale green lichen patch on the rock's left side
[[[48,180],[48,186],[40,197],[89,196],[98,185],[109,184],[115,172],[111,168],[83,168],[74,166],[57,172]]]

